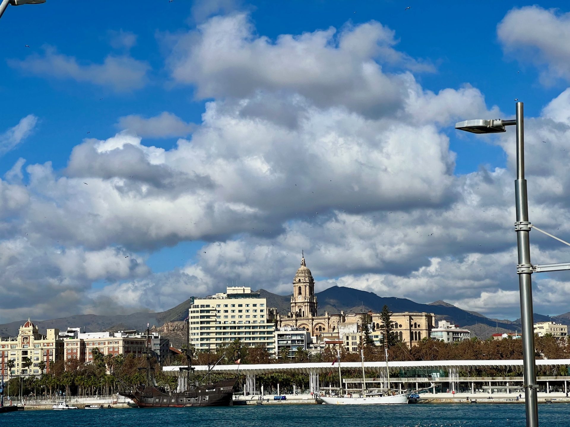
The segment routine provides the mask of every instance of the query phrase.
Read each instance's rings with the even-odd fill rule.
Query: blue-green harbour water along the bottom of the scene
[[[539,405],[541,426],[566,427],[570,404]],[[30,410],[0,416],[0,426],[152,427],[522,427],[524,405],[283,405],[227,408]]]

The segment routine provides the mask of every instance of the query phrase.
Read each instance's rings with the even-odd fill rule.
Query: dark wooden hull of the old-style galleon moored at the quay
[[[158,387],[137,387],[121,395],[139,408],[184,408],[230,406],[236,379],[198,385],[190,391],[168,393]]]

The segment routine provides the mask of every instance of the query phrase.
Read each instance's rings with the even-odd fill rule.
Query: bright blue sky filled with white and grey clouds
[[[10,6],[0,322],[288,294],[302,249],[317,290],[519,317],[514,129],[454,124],[524,101],[531,221],[570,240],[570,7],[475,3]],[[533,280],[570,311],[570,274]]]

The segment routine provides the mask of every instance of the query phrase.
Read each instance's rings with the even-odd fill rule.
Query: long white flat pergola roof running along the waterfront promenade
[[[539,359],[537,366],[570,365],[570,359]],[[522,360],[423,360],[421,362],[388,362],[390,372],[400,372],[401,369],[448,369],[448,368],[481,368],[481,367],[522,367]],[[178,376],[180,368],[185,366],[165,366],[162,371],[166,375]],[[197,372],[206,372],[207,366],[194,366]],[[342,370],[361,369],[361,362],[341,362]],[[239,372],[245,374],[260,375],[272,372],[318,373],[336,372],[339,369],[337,363],[271,363],[257,365],[218,365],[212,372]],[[385,372],[386,362],[364,362],[364,370],[367,372]]]

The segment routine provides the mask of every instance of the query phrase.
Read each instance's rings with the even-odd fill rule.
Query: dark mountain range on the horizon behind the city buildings
[[[262,297],[267,298],[268,307],[277,307],[278,312],[286,315],[290,311],[291,295],[277,295],[267,290],[260,289]],[[372,292],[359,289],[345,288],[343,286],[332,286],[316,294],[319,303],[319,314],[325,311],[329,314],[337,314],[340,311],[345,313],[366,313],[372,310],[378,313],[384,305],[395,313],[426,312],[434,313],[436,321],[447,320],[455,325],[466,327],[472,331],[472,335],[487,338],[494,332],[520,331],[520,319],[516,321],[490,319],[475,311],[462,310],[445,301],[435,301],[430,304],[421,304],[406,298],[379,297]],[[46,321],[34,321],[40,332],[48,328],[65,330],[67,327],[82,327],[87,332],[93,331],[117,331],[146,328],[146,323],[151,326],[160,327],[167,322],[183,321],[188,316],[190,299],[180,303],[170,310],[160,313],[132,313],[117,315],[95,315],[79,314],[59,319]],[[536,322],[554,321],[557,323],[568,323],[570,313],[549,317],[541,314],[534,314]],[[0,336],[18,335],[18,329],[25,323],[26,319],[5,323],[0,325]]]

